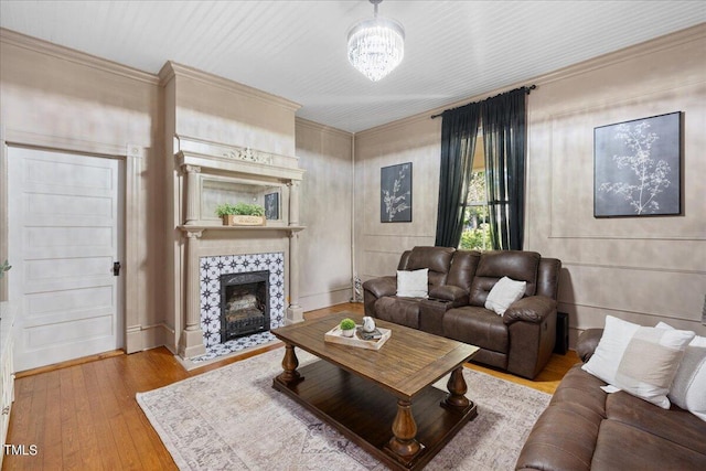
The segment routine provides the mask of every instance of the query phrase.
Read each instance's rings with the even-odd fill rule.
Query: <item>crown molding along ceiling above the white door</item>
[[[68,61],[85,67],[95,68],[110,74],[120,75],[133,81],[145,82],[150,85],[159,85],[159,78],[150,73],[118,64],[117,62],[86,54],[69,47],[60,46],[49,41],[28,36],[17,31],[0,28],[0,43],[11,44],[40,54]]]

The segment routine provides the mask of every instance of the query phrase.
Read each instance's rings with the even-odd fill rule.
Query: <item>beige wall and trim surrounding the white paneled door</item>
[[[163,314],[150,288],[158,277],[160,136],[157,77],[0,30],[3,203],[8,146],[78,151],[127,161],[125,266],[128,349],[161,344]],[[7,256],[7,203],[0,207]],[[127,237],[126,237],[127,238]],[[11,254],[10,254],[11,255]],[[11,256],[10,256],[11,258]],[[12,271],[8,274],[12,276]]]

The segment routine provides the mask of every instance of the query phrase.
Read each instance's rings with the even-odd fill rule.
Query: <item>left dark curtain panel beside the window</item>
[[[473,169],[480,104],[447,109],[441,116],[441,171],[435,245],[458,247],[463,231],[468,182]]]

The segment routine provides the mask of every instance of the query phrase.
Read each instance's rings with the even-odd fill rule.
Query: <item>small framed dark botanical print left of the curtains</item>
[[[410,223],[411,162],[383,167],[379,188],[381,223]]]

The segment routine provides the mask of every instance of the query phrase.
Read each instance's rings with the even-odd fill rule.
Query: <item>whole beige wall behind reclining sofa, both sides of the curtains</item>
[[[559,310],[569,313],[573,338],[606,314],[706,333],[704,64],[702,25],[532,82],[525,248],[563,260]],[[429,115],[438,111],[356,135],[355,255],[364,278],[394,274],[404,249],[434,244],[440,120]],[[672,111],[684,116],[683,215],[593,218],[593,128]],[[379,169],[407,161],[414,222],[381,224]]]

